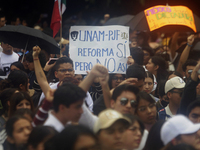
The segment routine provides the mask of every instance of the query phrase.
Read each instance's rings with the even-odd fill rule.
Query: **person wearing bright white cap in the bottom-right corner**
[[[180,143],[200,149],[200,124],[193,124],[183,115],[176,115],[167,120],[161,128],[161,139],[170,148]]]

